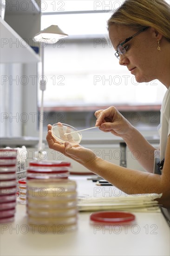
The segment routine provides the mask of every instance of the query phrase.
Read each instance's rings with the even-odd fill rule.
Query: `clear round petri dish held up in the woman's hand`
[[[71,133],[65,135],[65,133]],[[78,130],[65,123],[55,123],[52,125],[52,136],[61,143],[70,142],[72,145],[78,145],[82,139],[82,135]]]

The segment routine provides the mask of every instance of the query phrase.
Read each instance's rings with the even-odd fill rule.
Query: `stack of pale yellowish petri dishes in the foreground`
[[[76,182],[70,179],[28,179],[29,225],[64,234],[77,228]]]

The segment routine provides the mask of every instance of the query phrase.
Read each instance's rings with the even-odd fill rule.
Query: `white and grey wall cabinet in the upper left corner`
[[[40,31],[41,12],[35,0],[6,0],[5,19],[0,17],[0,62],[38,62],[33,36]]]

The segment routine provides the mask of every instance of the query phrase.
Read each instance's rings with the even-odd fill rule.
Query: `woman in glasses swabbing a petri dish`
[[[164,0],[126,0],[108,21],[108,31],[119,64],[126,66],[137,82],[157,78],[167,88],[159,129],[161,175],[154,172],[156,148],[114,107],[95,113],[96,126],[122,137],[131,151],[140,152],[138,161],[147,172],[107,162],[80,145],[60,144],[52,137],[51,125],[46,137],[49,148],[79,162],[127,194],[134,187],[141,194],[163,193],[160,203],[170,208],[170,6]]]

